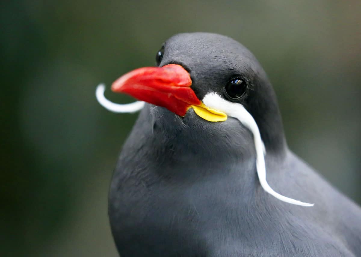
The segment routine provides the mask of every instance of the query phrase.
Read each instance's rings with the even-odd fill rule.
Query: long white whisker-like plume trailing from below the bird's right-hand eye
[[[230,117],[238,119],[245,127],[247,127],[253,134],[253,140],[256,148],[256,168],[258,179],[262,188],[269,194],[273,195],[275,198],[286,202],[292,203],[300,206],[313,206],[313,203],[304,203],[298,200],[285,197],[277,192],[275,192],[266,181],[266,164],[265,164],[265,146],[261,139],[260,130],[258,129],[256,121],[253,119],[252,115],[247,112],[242,104],[232,103],[223,99],[216,93],[207,94],[203,100],[203,104],[209,108],[215,109],[217,111],[222,111]]]

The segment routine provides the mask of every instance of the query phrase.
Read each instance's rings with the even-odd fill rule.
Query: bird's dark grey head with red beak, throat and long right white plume
[[[121,76],[112,90],[153,105],[143,115],[152,115],[153,130],[160,124],[161,135],[168,140],[158,136],[153,147],[160,144],[167,151],[173,146],[169,151],[173,154],[167,152],[164,158],[191,152],[196,153],[192,160],[198,162],[217,157],[218,163],[240,159],[254,163],[256,157],[265,191],[284,202],[313,206],[278,194],[266,181],[265,153],[282,159],[287,145],[273,88],[247,48],[226,36],[183,33],[161,46],[156,61],[157,67]],[[171,160],[175,165],[175,159]]]

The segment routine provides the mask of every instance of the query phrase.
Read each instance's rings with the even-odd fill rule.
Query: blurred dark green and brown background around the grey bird
[[[247,46],[290,148],[361,203],[361,1],[14,0],[0,13],[1,256],[117,256],[108,185],[137,115],[106,111],[95,87],[153,66],[179,32]]]

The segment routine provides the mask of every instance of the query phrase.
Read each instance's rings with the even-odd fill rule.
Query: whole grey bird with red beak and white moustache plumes
[[[120,256],[361,256],[361,208],[288,148],[273,87],[245,46],[181,33],[156,64],[112,84],[134,103],[96,90],[110,111],[140,111],[109,190]]]

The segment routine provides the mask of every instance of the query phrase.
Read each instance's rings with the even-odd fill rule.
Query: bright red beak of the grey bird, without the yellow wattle
[[[191,105],[201,104],[191,85],[191,77],[182,66],[168,64],[128,72],[114,81],[112,90],[184,116]]]

